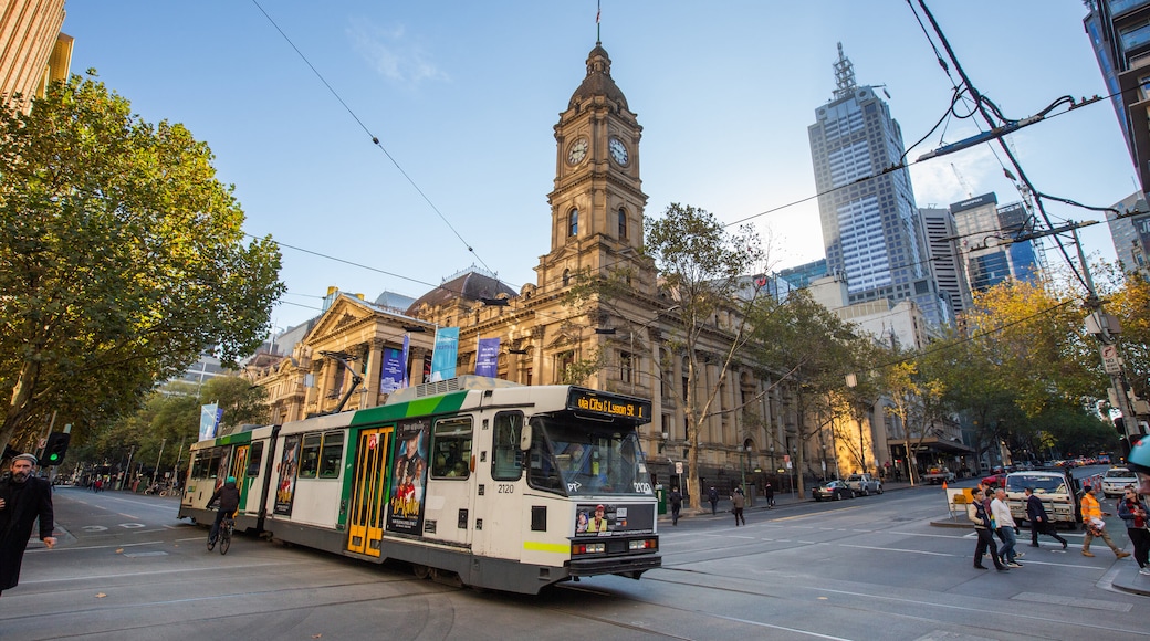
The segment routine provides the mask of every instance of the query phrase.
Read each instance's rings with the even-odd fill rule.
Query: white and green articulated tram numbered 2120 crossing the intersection
[[[661,565],[650,420],[643,399],[463,376],[195,443],[179,518],[210,523],[232,476],[237,530],[274,540],[523,594],[638,579]]]

